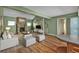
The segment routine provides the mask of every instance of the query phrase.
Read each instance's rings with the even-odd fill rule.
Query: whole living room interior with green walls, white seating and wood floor
[[[78,8],[78,6],[1,6],[0,52],[79,52]],[[70,46],[77,48],[70,49]]]

